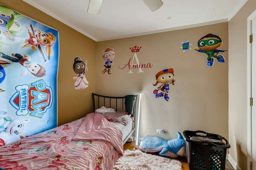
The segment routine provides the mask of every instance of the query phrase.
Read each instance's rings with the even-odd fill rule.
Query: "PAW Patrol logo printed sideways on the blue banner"
[[[42,118],[52,105],[52,89],[43,79],[15,87],[10,104],[17,109],[16,115],[30,115]]]

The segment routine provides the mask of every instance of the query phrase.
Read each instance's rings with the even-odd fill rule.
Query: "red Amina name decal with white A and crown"
[[[120,66],[119,66],[119,69],[122,70],[122,69],[126,68],[126,66],[127,66],[128,69],[130,70],[128,73],[133,73],[133,72],[132,72],[132,69],[138,69],[138,72],[144,72],[144,71],[142,70],[142,68],[152,68],[152,67],[153,67],[153,64],[151,64],[151,63],[147,63],[147,64],[145,64],[145,63],[140,63],[140,61],[139,61],[139,59],[138,59],[138,56],[137,56],[137,54],[136,54],[137,52],[140,51],[140,49],[141,49],[141,47],[138,47],[138,46],[134,46],[134,47],[130,48],[130,50],[132,51],[132,53],[134,53],[133,58],[130,58],[129,61],[128,61],[128,63],[127,63],[127,64],[124,64],[124,67],[120,68]],[[135,59],[135,61],[134,61],[134,59]],[[134,63],[134,62],[136,62],[136,63]]]

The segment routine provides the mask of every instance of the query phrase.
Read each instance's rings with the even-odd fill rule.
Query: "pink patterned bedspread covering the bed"
[[[0,147],[0,168],[112,170],[122,154],[120,129],[102,115],[90,113],[82,119]]]

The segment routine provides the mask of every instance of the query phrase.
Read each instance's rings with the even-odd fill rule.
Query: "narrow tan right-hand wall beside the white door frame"
[[[248,0],[229,21],[229,153],[242,170],[247,167],[247,18],[254,10],[256,1]]]

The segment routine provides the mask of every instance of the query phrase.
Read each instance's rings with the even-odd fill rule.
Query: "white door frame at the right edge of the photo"
[[[252,34],[251,20],[256,17],[256,10],[247,18],[247,169],[250,170],[252,160],[252,107],[250,98],[252,97],[252,48],[250,35]],[[256,41],[256,35],[254,35]],[[254,99],[256,100],[256,99]],[[256,165],[254,165],[256,166]]]

